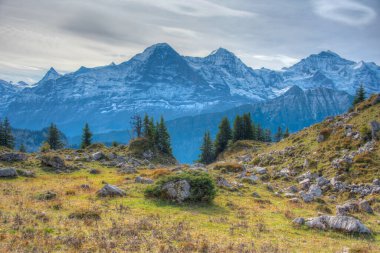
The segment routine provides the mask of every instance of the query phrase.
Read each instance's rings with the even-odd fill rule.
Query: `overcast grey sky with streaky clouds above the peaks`
[[[167,42],[280,69],[322,50],[380,63],[379,0],[0,0],[0,79],[120,63]]]

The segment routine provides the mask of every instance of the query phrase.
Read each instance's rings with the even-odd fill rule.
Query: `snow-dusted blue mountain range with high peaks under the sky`
[[[161,43],[118,65],[81,67],[65,75],[52,68],[28,88],[0,83],[0,115],[8,116],[17,128],[41,129],[55,122],[74,136],[85,122],[98,133],[122,130],[129,127],[133,114],[147,112],[172,120],[221,112],[279,97],[294,85],[353,94],[363,83],[368,93],[379,92],[379,80],[376,64],[355,63],[330,51],[273,71],[254,70],[226,49],[203,58],[185,57]],[[331,106],[342,108],[342,104]]]

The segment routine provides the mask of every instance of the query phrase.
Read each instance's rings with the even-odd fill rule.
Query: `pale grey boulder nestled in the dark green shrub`
[[[187,180],[167,182],[162,186],[162,194],[166,199],[182,203],[190,197],[190,188]]]

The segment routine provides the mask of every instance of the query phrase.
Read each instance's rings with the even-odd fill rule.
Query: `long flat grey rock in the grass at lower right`
[[[345,233],[370,234],[371,231],[359,220],[350,216],[319,216],[309,218],[305,225],[321,230],[336,230]]]

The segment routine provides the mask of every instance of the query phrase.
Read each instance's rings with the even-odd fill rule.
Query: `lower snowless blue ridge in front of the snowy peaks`
[[[326,116],[343,113],[352,103],[352,96],[342,91],[320,87],[302,90],[297,86],[285,94],[256,104],[242,105],[224,112],[183,117],[168,121],[175,157],[181,162],[198,158],[205,131],[214,137],[223,117],[232,123],[236,115],[251,113],[253,121],[275,133],[278,126],[291,132],[322,121]]]

